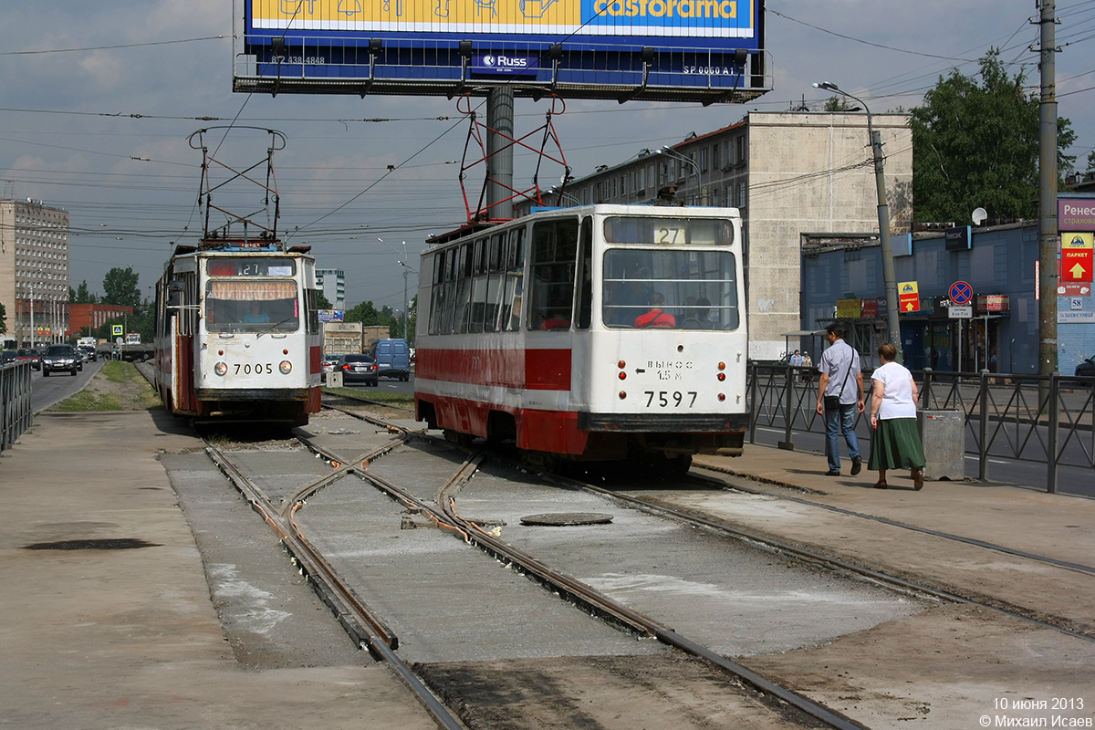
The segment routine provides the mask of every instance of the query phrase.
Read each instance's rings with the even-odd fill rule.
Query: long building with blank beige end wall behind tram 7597
[[[912,221],[912,132],[906,114],[876,114],[890,231]],[[676,188],[676,189],[672,189]],[[687,205],[741,211],[746,236],[749,357],[779,359],[799,328],[799,234],[878,234],[878,197],[862,113],[751,112],[729,127],[601,165],[550,190],[554,205],[649,202],[659,190]],[[523,210],[528,206],[522,207]]]

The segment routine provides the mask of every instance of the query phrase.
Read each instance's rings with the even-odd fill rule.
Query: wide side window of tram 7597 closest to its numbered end
[[[574,306],[578,220],[542,221],[532,227],[531,329],[566,329]]]

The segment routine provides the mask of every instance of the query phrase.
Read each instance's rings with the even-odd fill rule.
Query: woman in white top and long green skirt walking
[[[878,472],[876,489],[886,488],[886,471],[908,468],[912,488],[924,486],[924,447],[917,427],[917,382],[909,370],[896,362],[897,348],[890,343],[878,346],[881,366],[871,375],[871,459],[867,468]]]

